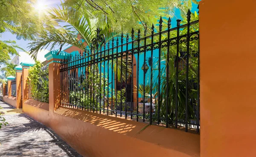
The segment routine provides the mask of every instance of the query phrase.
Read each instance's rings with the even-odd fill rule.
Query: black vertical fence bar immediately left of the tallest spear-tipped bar
[[[175,128],[178,122],[178,77],[179,77],[179,43],[180,43],[180,19],[177,20],[177,49],[176,49],[176,81],[175,81]]]

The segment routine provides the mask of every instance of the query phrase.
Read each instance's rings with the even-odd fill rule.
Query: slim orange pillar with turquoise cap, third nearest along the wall
[[[22,66],[19,65],[15,67],[16,70],[16,104],[17,109],[22,108],[22,98],[21,98],[21,76],[22,76]]]

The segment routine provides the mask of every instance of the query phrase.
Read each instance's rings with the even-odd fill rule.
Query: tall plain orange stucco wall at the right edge
[[[199,6],[201,157],[255,157],[256,1]]]

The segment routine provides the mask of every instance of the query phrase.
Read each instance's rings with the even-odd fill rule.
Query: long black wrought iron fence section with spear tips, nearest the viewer
[[[61,60],[61,105],[199,132],[199,23],[190,20],[188,11],[171,28],[161,17],[107,41],[97,29],[90,48]]]

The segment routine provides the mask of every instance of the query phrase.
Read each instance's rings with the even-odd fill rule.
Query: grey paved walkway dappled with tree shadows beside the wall
[[[81,157],[43,124],[0,101],[9,126],[0,129],[0,157]]]

